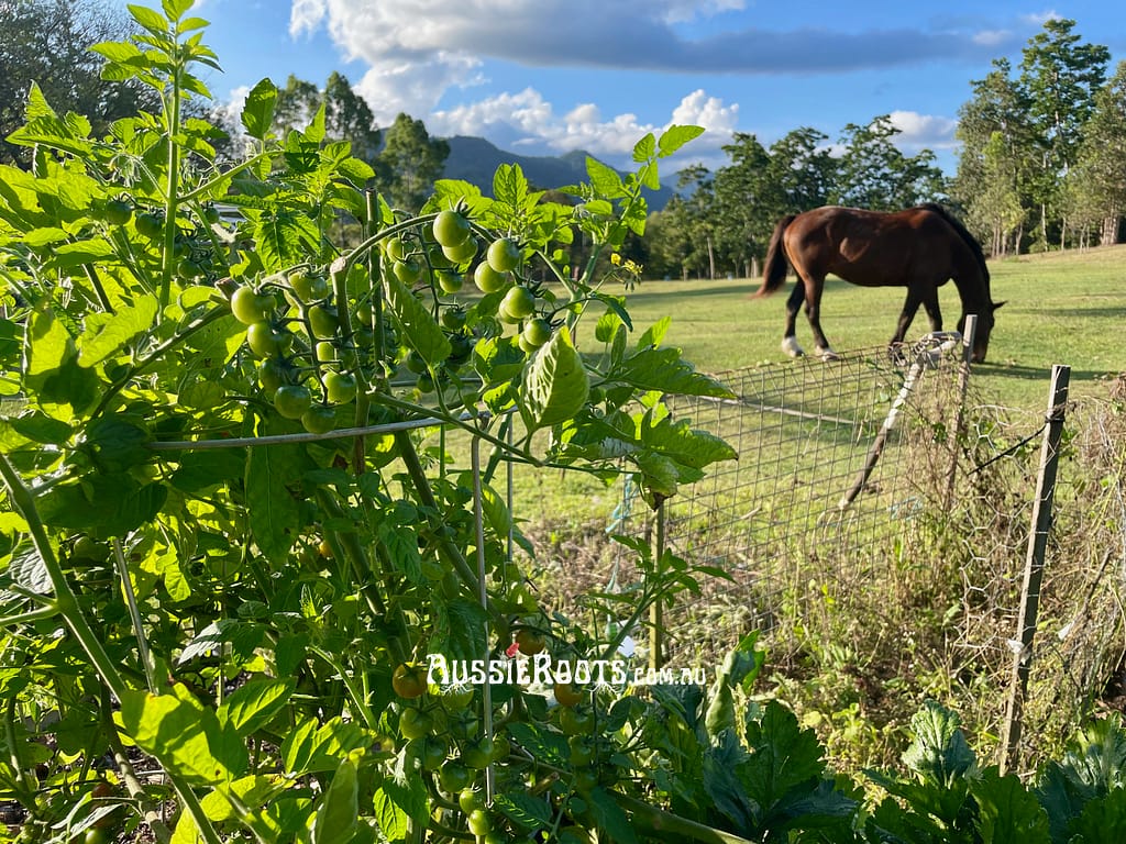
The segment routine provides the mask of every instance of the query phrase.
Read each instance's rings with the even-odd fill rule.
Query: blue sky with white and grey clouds
[[[194,14],[223,64],[216,99],[337,70],[381,125],[405,111],[431,135],[618,165],[670,123],[707,129],[674,163],[715,168],[733,132],[835,141],[892,115],[905,152],[927,146],[953,172],[971,81],[993,59],[1018,64],[1048,17],[1109,47],[1111,70],[1126,59],[1116,0],[197,0]]]

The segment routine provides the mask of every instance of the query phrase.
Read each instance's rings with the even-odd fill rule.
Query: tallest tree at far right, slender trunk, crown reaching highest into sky
[[[1039,152],[1039,172],[1033,181],[1039,208],[1040,240],[1049,242],[1049,217],[1063,213],[1064,181],[1074,165],[1083,125],[1094,108],[1094,92],[1106,80],[1107,47],[1080,44],[1074,20],[1052,18],[1024,51],[1019,84],[1027,92],[1029,117]],[[1066,225],[1061,221],[1060,245]]]

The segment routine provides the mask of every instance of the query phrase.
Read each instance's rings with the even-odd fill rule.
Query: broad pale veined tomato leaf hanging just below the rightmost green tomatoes
[[[520,408],[529,433],[571,419],[587,404],[590,383],[564,325],[524,370]]]

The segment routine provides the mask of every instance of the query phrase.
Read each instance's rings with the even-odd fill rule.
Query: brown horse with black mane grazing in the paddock
[[[756,297],[781,286],[787,261],[799,284],[786,303],[781,341],[786,353],[803,353],[794,323],[804,302],[817,353],[826,359],[837,357],[821,330],[821,294],[825,276],[831,272],[861,287],[908,288],[893,344],[903,342],[919,305],[927,309],[931,330],[942,330],[938,288],[953,278],[962,298],[958,330],[965,325],[967,314],[976,314],[972,359],[985,360],[993,312],[1004,303],[994,303],[990,296],[989,269],[981,245],[941,206],[927,204],[894,213],[826,206],[783,217],[770,237],[762,286]]]

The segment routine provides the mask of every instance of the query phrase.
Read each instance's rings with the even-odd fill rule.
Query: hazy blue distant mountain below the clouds
[[[491,195],[492,178],[500,164],[519,164],[533,187],[545,190],[574,185],[587,179],[589,153],[575,150],[564,155],[518,155],[504,152],[483,137],[455,135],[447,137],[449,156],[446,159],[444,179],[463,179],[481,187]],[[667,179],[668,180],[668,179]],[[649,209],[660,210],[672,198],[672,189],[645,191]]]

